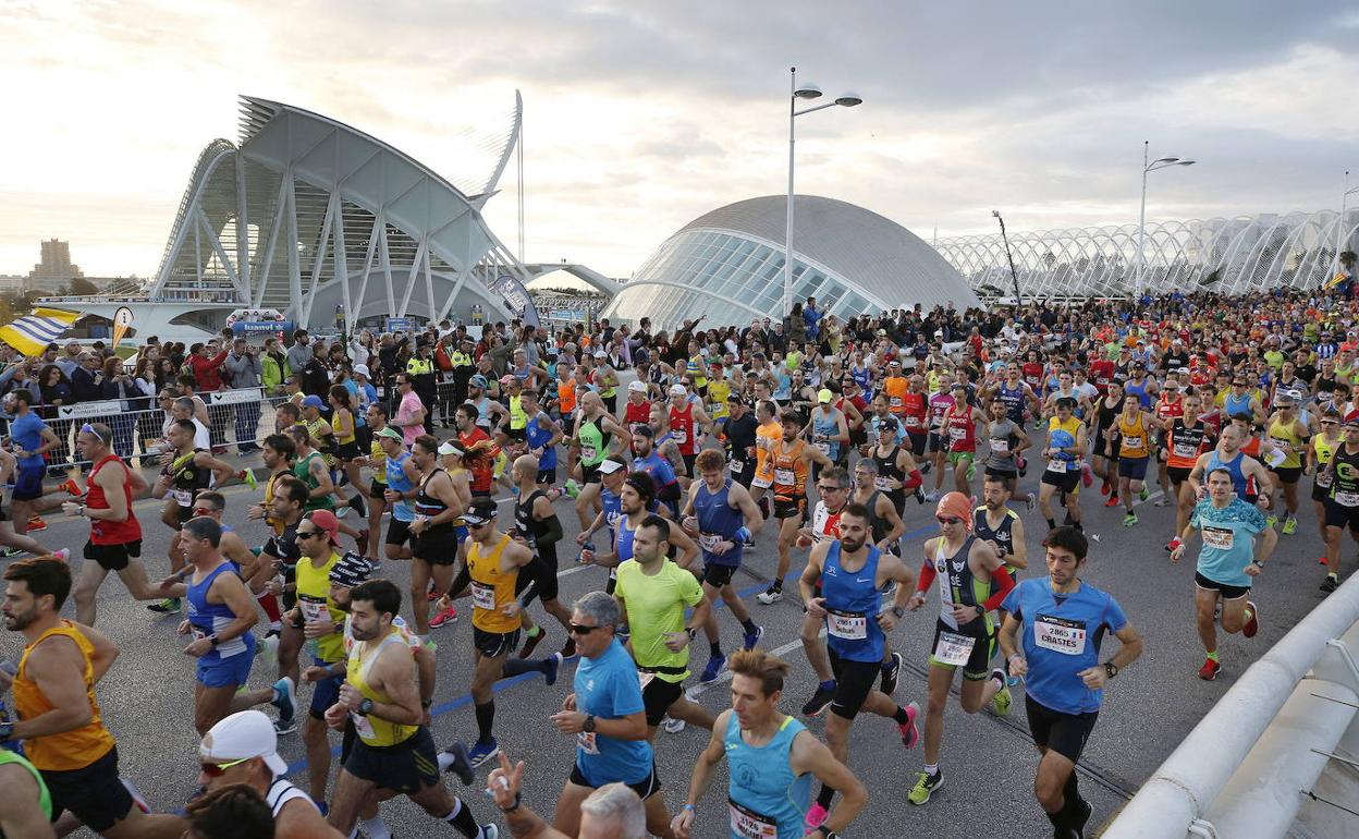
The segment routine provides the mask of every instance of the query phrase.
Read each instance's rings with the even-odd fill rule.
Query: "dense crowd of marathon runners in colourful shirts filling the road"
[[[1055,836],[1083,836],[1075,764],[1104,688],[1143,649],[1117,600],[1082,581],[1098,562],[1084,528],[1109,515],[1101,506],[1144,528],[1136,507],[1152,494],[1174,507],[1174,530],[1152,541],[1162,559],[1196,562],[1204,680],[1223,668],[1219,626],[1258,631],[1252,592],[1282,538],[1318,529],[1317,582],[1335,590],[1344,530],[1359,541],[1355,322],[1348,299],[1277,292],[848,322],[810,301],[783,324],[673,335],[512,324],[478,343],[431,329],[386,381],[340,362],[347,383],[325,398],[294,388],[257,441],[258,472],[215,453],[181,397],[159,453],[141,458],[155,472],[95,422],[72,430],[88,468],[50,484],[43,453],[63,441],[16,392],[0,451],[10,518],[60,506],[88,519],[88,540],[75,564],[0,526],[33,553],[4,570],[5,628],[24,646],[0,662],[0,835],[84,824],[111,839],[385,839],[381,804],[405,795],[476,839],[833,838],[874,798],[923,806],[940,789],[961,681],[968,714],[1010,714],[1022,687],[1037,804]],[[458,390],[421,396],[446,347],[462,362]],[[1037,494],[1021,490],[1029,472]],[[249,485],[222,491],[236,481]],[[133,510],[148,495],[159,521]],[[908,504],[934,509],[923,543],[902,538]],[[232,522],[246,518],[269,538],[242,538]],[[145,528],[167,529],[167,556],[141,556]],[[777,574],[745,602],[733,577],[761,541]],[[598,590],[561,602],[563,556],[599,567]],[[398,563],[404,589],[383,577]],[[120,778],[101,718],[96,685],[120,654],[95,628],[110,572],[149,609],[182,615],[197,660],[185,715],[201,737],[200,789],[175,813],[149,812]],[[760,611],[791,586],[805,660],[761,649]],[[896,631],[921,608],[938,609],[932,636]],[[472,649],[440,646],[459,619]],[[728,621],[739,649],[722,645]],[[549,635],[564,642],[544,647]],[[928,684],[912,702],[898,677],[921,640]],[[436,689],[450,691],[440,658],[467,664],[451,688],[474,708],[466,747],[431,734]],[[794,668],[815,673],[809,696],[784,696]],[[272,685],[251,688],[251,674]],[[520,674],[569,679],[548,725],[575,738],[575,763],[550,824],[523,804],[525,764],[496,740],[497,725],[538,723],[497,713],[496,683]],[[730,707],[686,689],[724,679]],[[863,715],[905,749],[923,740],[911,789],[870,797],[856,776],[849,729]],[[821,737],[802,722],[815,717]],[[662,794],[652,744],[686,726],[711,732],[708,745],[688,791],[667,778]],[[287,776],[287,736],[304,744],[304,776]],[[723,760],[726,823],[704,824],[697,805]],[[446,774],[489,798],[459,798]]]

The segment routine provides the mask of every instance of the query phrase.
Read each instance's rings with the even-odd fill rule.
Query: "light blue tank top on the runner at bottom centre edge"
[[[802,820],[811,808],[811,775],[794,775],[788,767],[788,753],[794,738],[807,726],[786,717],[773,738],[762,747],[753,747],[741,736],[741,721],[731,715],[722,742],[727,751],[727,801],[731,820],[741,820],[750,829],[747,836],[764,835],[760,823],[775,825],[780,839],[802,836]],[[750,821],[754,821],[754,825]],[[768,829],[768,828],[765,828]],[[737,825],[731,825],[731,839],[742,839]]]

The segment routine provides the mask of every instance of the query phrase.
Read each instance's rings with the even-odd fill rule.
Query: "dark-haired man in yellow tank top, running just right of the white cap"
[[[341,730],[351,721],[357,738],[340,770],[332,795],[330,827],[348,835],[374,789],[405,795],[432,817],[469,839],[496,839],[493,824],[478,825],[470,808],[450,795],[439,776],[438,756],[416,688],[416,664],[393,620],[401,590],[385,579],[349,593],[349,653],[340,699],[325,713]]]

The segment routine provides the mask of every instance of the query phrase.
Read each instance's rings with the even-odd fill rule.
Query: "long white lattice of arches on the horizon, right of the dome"
[[[1336,243],[1355,247],[1359,209],[1238,216],[1146,224],[1143,281],[1139,226],[1010,231],[1019,288],[1036,296],[1132,296],[1207,288],[1246,294],[1286,286],[1317,288],[1335,272]],[[968,283],[988,295],[1011,288],[999,235],[945,238],[935,249]]]

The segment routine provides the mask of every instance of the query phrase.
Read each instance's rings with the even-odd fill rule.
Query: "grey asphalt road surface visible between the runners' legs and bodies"
[[[949,483],[951,476],[946,485]],[[1037,476],[1030,473],[1022,481],[1022,488],[1037,490]],[[245,487],[232,487],[227,495],[228,522],[242,532],[247,544],[262,541],[264,528],[245,519],[245,509],[257,494]],[[1171,510],[1155,507],[1150,500],[1142,503],[1137,509],[1142,522],[1125,529],[1121,526],[1123,511],[1102,509],[1098,506],[1099,500],[1097,490],[1084,491],[1086,530],[1094,541],[1083,578],[1118,598],[1129,620],[1143,634],[1147,649],[1142,660],[1127,668],[1106,691],[1104,711],[1080,764],[1083,794],[1094,804],[1091,824],[1105,823],[1245,668],[1324,597],[1317,590],[1322,578],[1317,564],[1321,541],[1307,504],[1302,510],[1299,533],[1280,537],[1273,562],[1258,578],[1254,600],[1261,611],[1260,634],[1252,640],[1235,636],[1223,642],[1222,674],[1214,683],[1200,681],[1195,677],[1203,662],[1203,650],[1192,623],[1193,562],[1186,559],[1173,566],[1162,549],[1174,525]],[[170,530],[158,521],[158,503],[143,500],[136,507],[147,532],[143,558],[152,579],[158,579],[169,567],[166,548]],[[1027,575],[1038,574],[1038,541],[1045,525],[1037,509],[1025,513],[1022,502],[1012,506],[1021,511],[1029,529],[1033,570]],[[508,506],[501,510],[508,511]],[[559,511],[569,541],[578,532],[576,517],[567,500],[559,502]],[[920,543],[935,533],[932,513],[932,504],[917,506],[908,502],[906,545],[912,563],[920,559]],[[79,558],[87,526],[84,521],[54,515],[49,518],[48,530],[38,536],[50,547],[71,547]],[[775,605],[760,605],[754,600],[775,572],[772,529],[771,533],[761,534],[757,543],[757,549],[746,555],[737,586],[756,621],[765,627],[762,647],[794,662],[783,710],[795,713],[815,683],[798,643],[802,606],[795,586],[788,586],[790,594]],[[568,551],[561,552],[569,556]],[[794,574],[800,570],[803,558],[805,555],[795,555]],[[73,566],[80,562],[83,560],[72,560]],[[79,567],[75,571],[79,572]],[[381,574],[405,589],[408,567],[404,563],[386,562]],[[603,570],[573,566],[565,559],[561,574],[563,601],[569,602],[599,589],[603,581]],[[902,651],[908,662],[897,689],[897,700],[902,704],[908,700],[924,704],[924,662],[935,608],[931,602],[925,609],[908,615],[890,636],[893,647]],[[71,612],[72,605],[68,604],[67,609]],[[540,650],[556,650],[563,642],[561,628],[540,609],[534,606],[534,613],[552,634]],[[741,643],[739,626],[726,609],[719,615],[723,647],[728,651],[737,649]],[[122,646],[121,658],[98,691],[105,721],[118,740],[124,776],[133,779],[159,810],[179,808],[194,789],[197,774],[197,736],[192,725],[193,660],[181,651],[183,640],[175,635],[178,617],[158,617],[147,612],[143,604],[133,602],[116,578],[110,577],[101,592],[98,626]],[[440,745],[454,738],[469,744],[476,740],[476,721],[466,695],[472,673],[470,632],[466,616],[453,626],[435,630],[439,643],[439,687],[435,695],[434,734]],[[1112,649],[1116,642],[1110,639],[1108,643],[1110,646],[1106,649]],[[0,654],[18,658],[20,649],[22,638],[18,634],[0,635]],[[694,650],[696,672],[705,660],[707,651],[700,643]],[[546,687],[535,674],[503,681],[496,698],[496,736],[500,747],[511,757],[529,761],[525,802],[546,817],[553,812],[573,760],[573,738],[559,734],[548,721],[548,715],[560,708],[561,699],[571,691],[572,673],[573,666],[564,668],[563,677],[554,687]],[[272,668],[257,665],[250,681],[251,685],[265,685],[273,679]],[[728,699],[724,685],[723,681],[705,689],[700,702],[713,711],[726,707]],[[303,688],[302,702],[307,696],[308,688]],[[961,713],[955,702],[950,704],[940,763],[946,783],[925,806],[913,806],[906,801],[915,772],[923,763],[921,747],[908,752],[902,749],[889,721],[860,717],[851,734],[849,764],[868,787],[870,804],[845,835],[915,834],[942,839],[976,839],[1002,834],[1051,835],[1051,825],[1030,791],[1037,756],[1023,721],[1021,700],[1017,692],[1015,710],[1008,718],[998,718],[991,713],[969,717]],[[824,727],[821,721],[810,721],[809,725],[817,733]],[[333,740],[338,748],[338,736],[333,736]],[[656,760],[663,794],[671,810],[684,801],[693,760],[705,741],[707,732],[692,727],[678,734],[658,734]],[[299,785],[303,783],[304,771],[300,770],[304,760],[299,736],[283,737],[280,752],[299,770],[295,779]],[[491,821],[496,813],[481,791],[485,771],[484,768],[472,790],[461,787],[453,778],[448,783],[466,798],[481,821]],[[718,785],[724,783],[723,770]],[[718,785],[700,804],[700,836],[727,835],[722,786]],[[387,824],[398,836],[446,835],[450,829],[435,824],[405,800],[387,802],[382,809]],[[90,834],[82,831],[76,835]]]

